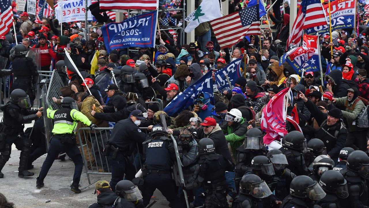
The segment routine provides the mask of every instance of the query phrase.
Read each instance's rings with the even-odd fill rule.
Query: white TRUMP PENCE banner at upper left
[[[85,21],[85,0],[63,0],[62,17],[60,17],[60,1],[55,4],[55,18],[59,22]],[[91,5],[91,0],[87,0],[87,7]],[[91,11],[87,11],[87,21],[92,21]]]

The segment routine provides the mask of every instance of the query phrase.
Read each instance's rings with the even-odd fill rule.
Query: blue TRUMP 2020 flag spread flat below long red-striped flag
[[[156,21],[157,11],[151,11],[101,27],[107,52],[128,47],[154,47]]]

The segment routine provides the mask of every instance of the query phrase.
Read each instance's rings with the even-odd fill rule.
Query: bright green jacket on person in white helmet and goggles
[[[245,134],[247,131],[247,123],[244,118],[241,118],[239,125],[228,126],[228,123],[225,123],[222,126],[222,130],[225,134],[225,140],[231,144],[231,149],[233,153],[234,159],[237,156],[237,148],[240,147],[245,141]]]

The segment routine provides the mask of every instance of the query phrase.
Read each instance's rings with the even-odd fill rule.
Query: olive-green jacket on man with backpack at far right
[[[356,98],[358,99],[358,98]],[[347,101],[347,97],[339,97],[336,98],[336,106],[345,106]],[[361,131],[362,128],[357,127],[356,125],[352,125],[352,122],[355,121],[355,119],[358,117],[358,115],[361,113],[361,110],[365,107],[363,101],[359,100],[355,106],[354,110],[352,110],[352,105],[354,105],[355,101],[351,101],[346,106],[346,111],[342,111],[343,116],[347,120],[348,124],[348,131]]]

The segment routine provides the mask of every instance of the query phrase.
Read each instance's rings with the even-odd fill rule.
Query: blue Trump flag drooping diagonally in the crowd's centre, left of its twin
[[[213,78],[212,72],[209,71],[191,86],[187,87],[182,93],[179,93],[165,108],[169,116],[178,115],[183,109],[194,104],[200,93],[207,93],[210,95],[210,103],[214,104],[213,94]]]

